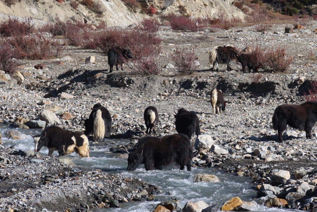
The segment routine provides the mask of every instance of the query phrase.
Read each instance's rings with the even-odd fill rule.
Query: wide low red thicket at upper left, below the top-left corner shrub
[[[14,57],[18,59],[49,59],[60,56],[64,45],[38,33],[13,37],[10,44],[14,47]]]

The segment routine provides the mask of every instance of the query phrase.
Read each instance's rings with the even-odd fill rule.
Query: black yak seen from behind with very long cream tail
[[[81,115],[82,118],[83,115]],[[94,140],[103,140],[105,135],[110,133],[112,119],[109,111],[100,103],[93,106],[88,119],[85,121],[85,135],[93,133]]]

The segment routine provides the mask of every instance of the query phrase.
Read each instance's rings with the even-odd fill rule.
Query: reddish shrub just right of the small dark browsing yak
[[[265,54],[266,65],[271,68],[273,72],[285,72],[291,64],[293,58],[286,54],[286,47],[269,50]]]

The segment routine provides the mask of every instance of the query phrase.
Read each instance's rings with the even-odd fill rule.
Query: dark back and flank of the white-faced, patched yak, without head
[[[73,137],[76,140],[76,146],[81,147],[83,145],[84,139],[81,137],[81,133],[73,132],[69,130],[62,129],[61,127],[57,127],[55,125],[51,125],[46,127],[41,133],[44,136],[46,133],[46,138],[48,140],[47,146],[48,148],[56,147],[59,148],[61,146],[70,146],[74,144]]]

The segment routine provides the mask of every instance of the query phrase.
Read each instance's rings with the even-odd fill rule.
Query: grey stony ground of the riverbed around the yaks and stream
[[[192,140],[196,149],[193,166],[216,167],[236,173],[237,177],[250,176],[258,184],[255,188],[259,190],[258,201],[268,207],[314,209],[317,202],[316,128],[313,128],[312,140],[305,139],[305,133],[289,128],[284,135],[286,140],[279,143],[271,125],[275,107],[304,102],[304,93],[316,79],[317,43],[314,30],[317,23],[310,21],[306,29],[285,34],[285,26],[292,25],[274,24],[263,33],[256,32],[254,26],[198,33],[171,31],[165,27],[159,31],[159,36],[164,39],[159,60],[166,66],[159,76],[137,76],[126,71],[109,73],[106,56],[75,47],[68,47],[67,55],[63,58],[25,60],[20,70],[24,76],[21,85],[13,77],[1,73],[0,120],[10,127],[23,129],[57,124],[82,132],[81,115],[87,117],[91,107],[100,102],[109,109],[113,118],[109,138],[128,139],[131,142],[126,147],[133,149],[137,139],[145,135],[143,111],[147,106],[155,106],[159,111],[160,123],[156,136],[176,133],[174,109],[184,107],[197,113],[203,134],[196,141]],[[212,72],[207,51],[221,44],[234,44],[240,49],[254,44],[263,48],[287,45],[287,52],[294,60],[287,73],[261,71],[259,81],[254,80],[253,74],[242,74],[241,66],[234,62],[231,63],[233,70],[230,72]],[[182,77],[175,75],[170,55],[176,47],[196,50],[200,63],[197,73]],[[94,56],[95,60],[89,58],[91,62],[85,63],[89,56]],[[45,64],[45,67],[35,69],[37,64]],[[224,65],[219,68],[225,69]],[[223,113],[212,115],[209,94],[215,87],[224,92],[228,106]],[[113,142],[91,141],[91,145],[105,145],[111,147],[112,152],[124,153],[124,149]],[[78,199],[71,206],[63,202],[58,209],[84,209],[86,204],[89,208],[99,207],[101,202],[108,207],[114,200],[125,201],[126,193],[132,194],[130,200],[139,199],[139,192],[147,188],[137,179],[129,183],[121,175],[113,176],[99,170],[83,172],[59,164],[55,158],[33,154],[11,155],[13,150],[3,147],[1,151],[5,159],[2,159],[0,169],[0,180],[4,185],[0,206],[7,210],[9,207],[13,210],[42,209],[45,201],[55,200],[43,198],[43,202],[37,202],[35,195],[52,195],[52,192],[63,193],[65,200]],[[32,163],[33,159],[40,161],[36,161],[38,164]],[[35,166],[39,169],[35,169]],[[24,170],[28,170],[27,173]],[[110,185],[114,187],[105,185],[105,179],[112,182]],[[78,182],[83,187],[78,188],[74,197],[67,188],[73,188],[72,185]],[[129,183],[129,186],[120,187],[121,183]],[[117,188],[120,191],[114,194]],[[116,197],[111,199],[109,194]],[[86,201],[84,205],[79,203],[82,200]],[[222,203],[219,202],[219,205]],[[233,205],[229,209],[242,206],[238,199],[229,203]]]

